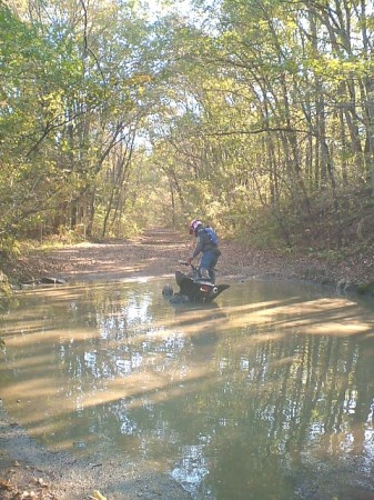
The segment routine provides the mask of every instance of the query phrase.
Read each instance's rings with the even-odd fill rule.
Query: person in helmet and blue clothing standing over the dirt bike
[[[199,271],[203,279],[215,282],[214,267],[221,256],[219,249],[219,238],[215,231],[210,227],[204,227],[199,219],[194,219],[190,224],[190,234],[194,234],[198,238],[195,249],[192,256],[188,259],[191,263],[192,260],[202,253]]]

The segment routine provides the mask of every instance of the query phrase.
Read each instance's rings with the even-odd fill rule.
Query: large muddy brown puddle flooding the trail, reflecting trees
[[[374,312],[309,286],[38,289],[1,320],[0,396],[42,444],[155,463],[195,499],[374,498]]]

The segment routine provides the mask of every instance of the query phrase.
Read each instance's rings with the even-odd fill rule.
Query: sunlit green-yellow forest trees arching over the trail
[[[162,8],[162,9],[161,9]],[[374,241],[366,0],[0,1],[0,244],[195,216]]]

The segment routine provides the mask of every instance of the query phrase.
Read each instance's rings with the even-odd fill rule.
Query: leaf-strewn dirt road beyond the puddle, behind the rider
[[[144,276],[169,276],[179,259],[185,259],[194,247],[194,238],[172,229],[152,229],[133,240],[103,243],[80,243],[23,258],[27,278],[58,276],[68,280],[122,280]],[[352,283],[374,282],[374,254],[352,252],[340,262],[317,253],[285,252],[274,249],[251,249],[222,240],[219,276],[225,279],[277,277],[303,279],[336,286],[341,280]]]

